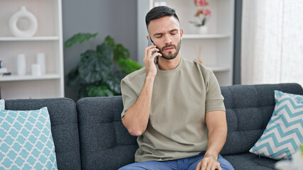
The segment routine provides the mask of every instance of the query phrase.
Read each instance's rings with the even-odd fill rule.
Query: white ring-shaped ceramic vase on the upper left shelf
[[[20,30],[17,26],[18,21],[22,18],[26,19],[29,23],[29,26],[26,30]],[[16,37],[32,37],[35,35],[37,29],[37,18],[33,15],[33,13],[27,11],[25,6],[21,6],[19,10],[16,13],[13,13],[13,15],[11,15],[11,18],[9,18],[9,31]]]

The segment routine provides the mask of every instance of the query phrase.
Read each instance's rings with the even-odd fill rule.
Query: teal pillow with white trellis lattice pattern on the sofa
[[[0,111],[0,169],[58,169],[46,107]]]

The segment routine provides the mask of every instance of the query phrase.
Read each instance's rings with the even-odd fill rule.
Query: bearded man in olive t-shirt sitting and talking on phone
[[[145,67],[121,82],[122,123],[139,145],[136,162],[121,169],[233,169],[219,155],[227,125],[216,77],[180,56],[173,9],[152,8],[146,23],[154,45],[145,48]]]

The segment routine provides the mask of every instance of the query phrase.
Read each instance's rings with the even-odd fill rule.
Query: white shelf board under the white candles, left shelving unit
[[[32,76],[30,74],[18,76],[16,74],[0,77],[1,81],[26,81],[26,80],[43,80],[43,79],[60,79],[59,74],[44,74],[41,76]]]

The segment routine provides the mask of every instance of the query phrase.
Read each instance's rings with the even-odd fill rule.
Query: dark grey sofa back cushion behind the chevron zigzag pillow
[[[274,91],[303,94],[299,84],[223,86],[228,136],[221,154],[249,152],[264,132],[275,108]]]

